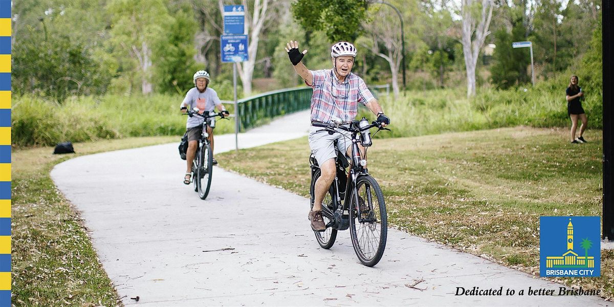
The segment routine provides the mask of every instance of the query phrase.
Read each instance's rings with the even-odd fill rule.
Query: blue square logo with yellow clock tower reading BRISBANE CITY
[[[601,276],[598,216],[542,216],[540,277]]]

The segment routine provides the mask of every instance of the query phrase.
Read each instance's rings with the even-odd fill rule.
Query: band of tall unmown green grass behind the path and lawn
[[[405,137],[507,126],[569,126],[564,90],[568,76],[540,82],[535,88],[494,90],[483,87],[467,98],[464,88],[406,91],[398,99],[380,95],[392,119],[392,133]],[[588,88],[583,107],[589,128],[602,128],[602,93]],[[17,146],[52,146],[128,136],[180,136],[186,117],[179,112],[182,95],[81,96],[58,104],[37,96],[14,98],[12,142]],[[231,112],[233,106],[226,106]],[[360,115],[373,118],[367,109]],[[234,121],[218,121],[216,133],[234,131]]]

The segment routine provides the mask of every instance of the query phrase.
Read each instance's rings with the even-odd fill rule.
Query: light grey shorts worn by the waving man
[[[333,142],[335,142],[335,140],[338,140],[337,149],[343,152],[344,155],[348,152],[348,147],[352,145],[350,139],[352,133],[339,130],[340,133],[330,135],[327,131],[318,131],[322,129],[321,127],[314,126],[309,128],[309,148],[311,148],[311,152],[316,156],[319,165],[322,165],[322,163],[328,159],[337,157],[335,147],[333,147]],[[343,135],[348,136],[348,138],[345,138]]]

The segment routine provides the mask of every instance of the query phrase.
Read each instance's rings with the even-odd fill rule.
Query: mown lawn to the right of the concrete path
[[[586,131],[589,143],[580,145],[569,144],[568,134],[519,126],[378,139],[368,168],[395,228],[538,276],[540,216],[601,215],[601,131]],[[301,138],[221,153],[218,160],[308,197],[308,157]],[[614,254],[604,251],[602,277],[558,281],[614,297],[613,264]]]

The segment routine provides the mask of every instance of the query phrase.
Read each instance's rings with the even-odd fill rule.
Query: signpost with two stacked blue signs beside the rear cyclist
[[[249,59],[247,33],[245,31],[245,8],[224,6],[224,34],[220,36],[220,53],[223,63],[233,63],[233,85],[235,87],[235,150],[239,150],[239,103],[236,99],[236,63]]]

